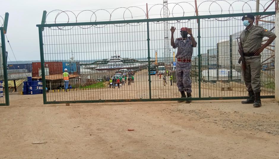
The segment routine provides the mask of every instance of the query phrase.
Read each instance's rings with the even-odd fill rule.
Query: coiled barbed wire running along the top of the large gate
[[[218,6],[218,7],[220,7],[220,9],[221,10],[219,10],[218,12],[221,12],[220,14],[223,14],[223,12],[228,12],[229,14],[233,14],[235,11],[242,11],[242,13],[244,13],[244,11],[246,12],[247,10],[249,11],[249,12],[252,12],[254,9],[252,9],[252,7],[251,7],[251,5],[252,5],[252,3],[253,3],[253,5],[254,5],[254,3],[256,2],[256,0],[247,0],[247,1],[245,1],[245,0],[236,0],[236,1],[232,1],[232,0],[215,0],[215,1],[213,1],[213,0],[206,0],[206,1],[197,1],[197,2],[200,2],[199,4],[198,4],[198,7],[197,7],[197,9],[198,9],[198,15],[200,15],[199,13],[202,13],[202,12],[209,12],[209,14],[210,15],[212,15],[212,12],[216,12],[216,11],[213,11],[213,10],[211,10],[211,8],[213,7],[213,6]],[[265,8],[266,8],[266,6],[267,5],[269,5],[270,3],[272,2],[272,0],[267,0],[266,2],[265,2],[265,4],[263,5],[263,4],[261,4],[261,3],[259,3],[259,5],[262,7],[261,9],[262,10],[264,10]],[[175,17],[175,15],[174,14],[182,14],[182,16],[180,16],[180,17],[184,17],[185,15],[186,15],[186,13],[194,13],[194,15],[192,15],[192,16],[195,16],[196,15],[196,9],[195,9],[195,7],[194,7],[194,1],[188,1],[188,2],[174,2],[174,3],[168,3],[168,7],[167,7],[167,17]],[[183,5],[188,5],[191,9],[193,9],[194,11],[193,12],[185,12],[184,11],[184,9],[183,9],[183,6],[182,6],[182,4]],[[205,8],[205,6],[206,6],[206,4],[208,4],[207,6],[208,6],[208,11],[205,11],[205,10],[202,10],[201,8]],[[224,4],[226,5],[225,7],[223,7],[224,6]],[[237,5],[237,7],[240,7],[240,6],[242,6],[242,10],[234,10],[234,7],[233,6],[235,6],[235,5]],[[108,21],[111,21],[111,20],[116,20],[116,19],[119,19],[119,20],[126,20],[125,18],[131,18],[131,19],[133,19],[133,18],[136,18],[136,17],[144,17],[144,19],[146,19],[147,18],[147,15],[148,15],[148,18],[153,18],[152,16],[154,16],[154,15],[160,15],[160,17],[161,18],[163,18],[164,16],[162,16],[162,10],[164,10],[164,4],[151,4],[151,5],[149,5],[149,9],[148,9],[148,14],[146,13],[146,11],[144,10],[144,9],[142,9],[142,8],[140,8],[141,6],[145,6],[145,5],[139,5],[139,6],[132,6],[132,7],[118,7],[118,8],[110,8],[110,9],[113,9],[111,12],[108,10],[108,9],[95,9],[95,10],[81,10],[81,11],[78,11],[78,13],[74,13],[74,11],[68,11],[68,10],[66,10],[66,11],[62,11],[62,10],[58,10],[58,9],[56,9],[56,10],[52,10],[52,11],[50,11],[50,12],[48,12],[47,13],[47,15],[46,15],[46,22],[45,22],[45,24],[47,24],[47,22],[49,22],[48,20],[47,20],[47,17],[51,14],[51,13],[57,13],[56,14],[56,16],[55,16],[55,18],[54,18],[54,23],[57,23],[57,18],[58,18],[58,16],[59,15],[62,15],[62,14],[65,14],[66,15],[66,17],[67,17],[67,20],[65,21],[66,23],[69,23],[69,22],[84,22],[84,21],[80,21],[79,20],[79,16],[82,14],[82,13],[84,13],[84,12],[89,12],[90,14],[91,14],[91,16],[90,16],[90,20],[85,20],[85,21],[87,21],[87,22],[96,22],[96,21],[99,21],[98,19],[97,19],[97,17],[98,17],[98,15],[105,15],[105,14],[107,14],[108,16],[109,16],[109,18],[107,18],[108,19]],[[150,7],[151,6],[151,7]],[[161,7],[161,9],[160,9],[160,7],[159,6],[162,6]],[[153,11],[153,10],[155,10],[155,9],[158,9],[158,7],[159,7],[159,9],[160,9],[160,13],[159,14],[150,14],[151,13],[151,11]],[[224,9],[224,8],[226,8],[227,7],[227,9]],[[245,9],[245,7],[247,8],[248,7],[248,9]],[[177,9],[178,8],[178,9]],[[216,8],[216,7],[215,7]],[[123,18],[116,18],[116,19],[113,19],[112,18],[112,15],[117,11],[117,10],[121,10],[121,9],[123,9],[124,11],[123,11]],[[140,15],[138,15],[138,16],[133,16],[133,14],[135,14],[135,13],[133,13],[132,12],[132,10],[131,9],[138,9],[139,11],[137,11],[136,13],[137,14],[139,14],[140,13]],[[171,11],[170,11],[171,10]],[[178,11],[178,10],[180,10],[180,12],[179,13],[174,13],[174,11]],[[189,9],[187,9],[187,10],[189,10]],[[72,14],[72,17],[74,18],[74,19],[71,19],[70,17],[70,14]],[[125,14],[129,14],[130,16],[129,17],[125,17]],[[3,19],[3,18],[2,18]],[[71,20],[70,20],[71,19]],[[229,17],[229,18],[227,18],[227,19],[220,19],[220,18],[213,18],[213,19],[206,19],[207,21],[228,21],[228,20],[231,20],[231,19],[236,19],[236,20],[240,20],[240,19],[237,19],[237,18],[235,18],[235,17]],[[190,20],[188,20],[188,21],[190,21]],[[188,21],[186,21],[186,22],[188,22]],[[157,24],[160,24],[160,23],[163,23],[164,21],[162,21],[162,22],[153,22],[153,23],[157,23]],[[172,21],[172,22],[167,22],[167,23],[169,23],[169,24],[175,24],[175,23],[181,23],[181,21],[180,20],[177,20],[177,21]],[[185,23],[185,21],[183,21],[183,23]],[[142,24],[142,23],[140,23],[140,24]],[[136,25],[140,25],[140,24],[136,24]],[[133,25],[133,24],[129,24],[129,23],[127,23],[127,24],[121,24],[121,25],[116,25],[116,24],[113,24],[113,25],[115,25],[115,26],[118,26],[118,27],[121,27],[121,26],[126,26],[126,25],[131,25],[131,26],[136,26],[136,25]],[[83,29],[88,29],[88,28],[91,28],[91,27],[96,27],[96,28],[101,28],[101,27],[105,27],[106,25],[90,25],[90,26],[88,26],[88,27],[83,27],[83,26],[79,26],[80,28],[83,28]],[[50,29],[52,29],[52,30],[70,30],[70,29],[72,29],[73,27],[70,27],[70,28],[65,28],[65,27],[52,27],[52,28],[50,28]]]

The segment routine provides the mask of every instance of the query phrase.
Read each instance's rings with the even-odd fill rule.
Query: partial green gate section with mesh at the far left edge
[[[9,106],[9,86],[8,86],[8,73],[7,73],[7,57],[6,57],[6,46],[5,46],[5,34],[7,33],[9,13],[4,15],[4,18],[0,15],[1,20],[4,22],[0,23],[1,33],[1,60],[0,60],[0,81],[3,81],[0,86],[0,106]]]

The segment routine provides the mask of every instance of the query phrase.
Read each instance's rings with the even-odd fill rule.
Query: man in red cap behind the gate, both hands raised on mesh
[[[196,47],[196,41],[192,35],[192,29],[182,27],[180,29],[181,38],[177,38],[174,41],[173,34],[175,27],[171,28],[171,46],[178,48],[175,58],[176,62],[176,80],[178,91],[181,93],[181,98],[191,98],[192,95],[192,80],[190,77],[191,72],[191,58],[193,55],[193,47]],[[188,37],[190,35],[190,37]],[[185,94],[187,93],[187,96]],[[178,101],[183,102],[183,100]],[[186,100],[186,103],[190,103],[191,100]]]

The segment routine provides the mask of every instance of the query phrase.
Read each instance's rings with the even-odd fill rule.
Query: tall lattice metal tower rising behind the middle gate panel
[[[164,18],[168,17],[168,1],[164,0]],[[169,58],[169,28],[168,23],[164,21],[164,63],[170,65]]]

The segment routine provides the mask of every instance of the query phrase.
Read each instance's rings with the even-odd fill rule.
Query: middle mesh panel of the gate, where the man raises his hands
[[[165,29],[165,26],[167,26],[167,29]],[[173,40],[177,43],[175,48],[171,46],[171,27],[175,27],[173,35]],[[152,74],[152,98],[180,98],[182,89],[188,89],[186,91],[192,92],[193,98],[198,97],[198,85],[195,84],[198,83],[198,63],[193,60],[197,58],[198,49],[191,46],[191,40],[189,40],[189,46],[186,47],[188,50],[183,52],[184,46],[181,46],[180,43],[184,43],[183,41],[186,41],[186,39],[181,39],[180,29],[184,27],[192,29],[194,40],[197,41],[196,19],[150,23],[150,56],[154,61],[152,63],[153,70],[150,70]],[[190,37],[190,35],[187,36]],[[177,58],[188,59],[188,62],[177,61]],[[183,69],[177,68],[177,65],[180,66],[181,64],[187,64],[187,66]],[[189,78],[183,79],[185,75]],[[184,88],[184,85],[189,85],[192,88]]]

